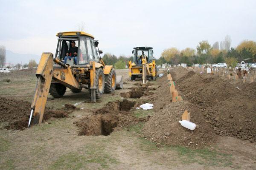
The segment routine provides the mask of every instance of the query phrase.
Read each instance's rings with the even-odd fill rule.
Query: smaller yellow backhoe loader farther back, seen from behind
[[[142,77],[142,86],[146,86],[147,78],[157,78],[157,67],[153,57],[152,47],[134,47],[134,61],[129,61],[129,76],[131,80]]]

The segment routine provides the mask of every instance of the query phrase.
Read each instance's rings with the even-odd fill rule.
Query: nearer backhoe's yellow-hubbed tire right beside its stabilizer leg
[[[96,94],[96,99],[99,99],[102,97],[104,93],[104,88],[105,88],[105,76],[103,73],[102,68],[96,68],[96,77],[95,77],[95,82],[96,82],[96,89],[95,89],[95,94]]]

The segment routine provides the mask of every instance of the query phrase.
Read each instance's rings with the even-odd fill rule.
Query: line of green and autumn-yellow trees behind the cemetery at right
[[[193,48],[185,48],[178,50],[177,48],[165,49],[161,57],[157,59],[157,65],[169,63],[177,65],[186,63],[188,66],[193,64],[206,64],[226,62],[227,65],[233,67],[237,62],[241,62],[246,58],[256,59],[256,42],[250,40],[242,41],[236,48],[231,47],[231,38],[229,35],[223,41],[215,42],[210,45],[207,40],[198,43],[196,50]]]

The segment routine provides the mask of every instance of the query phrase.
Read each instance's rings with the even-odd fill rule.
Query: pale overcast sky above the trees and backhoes
[[[229,34],[236,47],[256,41],[256,0],[0,0],[0,45],[21,54],[55,54],[57,32],[85,31],[119,56],[135,46],[212,45]]]

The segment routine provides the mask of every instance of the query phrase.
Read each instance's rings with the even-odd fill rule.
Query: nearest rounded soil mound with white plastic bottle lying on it
[[[191,113],[190,121],[198,125],[195,130],[182,127],[178,122],[185,110]],[[204,147],[215,142],[216,135],[204,113],[187,101],[169,102],[154,114],[143,127],[143,137],[153,142]]]

